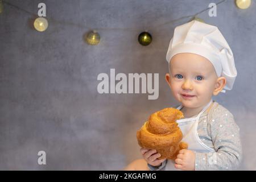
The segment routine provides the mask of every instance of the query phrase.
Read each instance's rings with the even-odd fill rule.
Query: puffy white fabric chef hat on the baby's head
[[[213,64],[217,76],[226,78],[226,85],[221,92],[232,90],[237,76],[233,53],[216,26],[197,20],[177,26],[166,54],[169,71],[170,60],[177,53],[195,53],[207,58]]]

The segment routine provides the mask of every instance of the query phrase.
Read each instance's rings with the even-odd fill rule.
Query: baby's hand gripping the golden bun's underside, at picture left
[[[158,159],[161,154],[156,153],[156,150],[150,150],[147,148],[141,148],[141,154],[148,164],[151,166],[160,166],[166,159]]]

